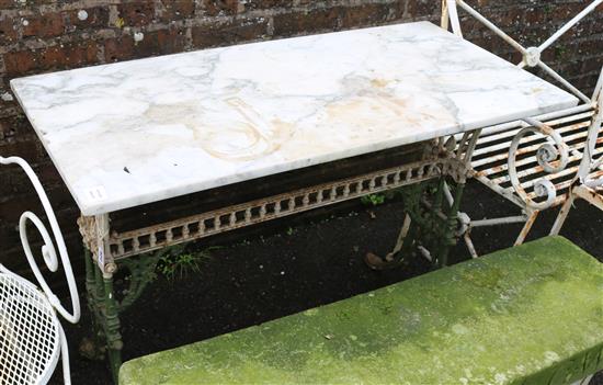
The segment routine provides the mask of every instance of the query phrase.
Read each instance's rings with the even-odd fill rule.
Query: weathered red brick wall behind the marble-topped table
[[[467,0],[512,36],[542,42],[587,1]],[[589,1],[590,2],[590,1]],[[88,19],[78,19],[84,10]],[[464,18],[467,19],[467,18]],[[0,155],[29,160],[39,174],[72,252],[77,207],[27,120],[11,101],[9,80],[25,75],[211,46],[416,20],[440,21],[439,0],[0,0]],[[504,57],[500,39],[467,19],[465,33]],[[143,32],[135,43],[133,34]],[[603,8],[545,58],[578,87],[593,87],[603,60]],[[8,92],[8,93],[7,93]],[[13,167],[0,168],[0,262],[20,264],[16,223],[37,199]],[[39,212],[39,211],[37,211]]]

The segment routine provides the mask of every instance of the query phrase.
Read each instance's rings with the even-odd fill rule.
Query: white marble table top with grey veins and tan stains
[[[576,105],[428,22],[11,81],[84,215]]]

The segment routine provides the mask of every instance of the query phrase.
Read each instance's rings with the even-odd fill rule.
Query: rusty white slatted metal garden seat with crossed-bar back
[[[545,49],[601,4],[603,0],[589,2],[539,46],[525,48],[465,1],[442,1],[442,27],[452,27],[456,35],[463,37],[458,9],[464,10],[522,54],[523,59],[517,64],[519,67],[538,67],[581,102],[576,107],[535,116],[534,120],[482,129],[471,161],[475,177],[497,194],[517,205],[522,215],[470,220],[462,214],[459,219],[464,225],[465,241],[474,257],[477,257],[477,252],[469,238],[471,228],[524,223],[515,240],[515,245],[522,244],[542,211],[567,202],[567,193],[584,158],[587,137],[592,136],[590,143],[593,154],[603,151],[601,122],[595,124],[600,91],[595,90],[591,98],[587,97],[542,60]],[[598,88],[601,89],[601,79]],[[592,128],[589,131],[589,127]],[[601,162],[598,167],[601,167]]]

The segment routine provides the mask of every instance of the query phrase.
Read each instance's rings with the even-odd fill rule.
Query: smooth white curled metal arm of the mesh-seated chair
[[[23,246],[23,250],[25,251],[25,257],[27,258],[27,262],[30,263],[30,267],[37,282],[42,287],[42,290],[44,291],[44,294],[48,298],[50,305],[53,305],[55,310],[58,312],[69,322],[76,324],[80,319],[80,315],[81,315],[78,288],[76,285],[76,280],[73,278],[73,272],[71,270],[69,254],[67,253],[67,247],[65,246],[65,240],[62,238],[62,233],[60,231],[60,228],[58,226],[57,218],[55,216],[55,212],[53,211],[50,202],[48,201],[48,196],[46,195],[46,192],[44,191],[44,188],[42,186],[42,183],[39,182],[37,175],[24,159],[19,157],[8,157],[8,158],[0,157],[0,165],[20,166],[25,172],[25,174],[27,175],[27,178],[30,178],[30,181],[32,182],[39,197],[39,201],[42,203],[46,217],[48,218],[53,237],[50,236],[50,233],[48,231],[48,229],[46,228],[42,219],[39,219],[39,217],[36,214],[27,211],[21,214],[21,217],[19,219],[19,233],[21,237],[21,244]],[[27,224],[30,222],[35,226],[35,228],[42,236],[42,239],[44,241],[44,245],[42,246],[42,249],[41,249],[42,258],[49,271],[56,272],[58,270],[59,258],[60,258],[60,262],[62,264],[62,269],[65,271],[65,276],[67,279],[67,284],[69,287],[69,295],[71,297],[71,312],[67,310],[65,306],[62,306],[58,297],[53,293],[53,291],[48,286],[48,283],[42,275],[39,267],[37,265],[34,259],[34,253],[32,252],[32,247],[30,246],[30,239],[27,237]],[[53,238],[54,238],[54,241],[53,241]],[[55,247],[55,244],[56,244],[56,247]],[[57,252],[57,249],[58,249],[58,252]],[[3,268],[3,270],[8,270],[8,269]]]

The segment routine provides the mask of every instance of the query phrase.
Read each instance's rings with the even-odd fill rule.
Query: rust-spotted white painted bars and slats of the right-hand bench
[[[487,165],[492,160],[502,161],[505,159],[505,157],[508,157],[507,169],[504,170],[504,167],[496,167],[496,168],[490,168],[490,169],[480,170],[480,171],[476,170],[476,179],[482,182],[483,184],[486,184],[487,186],[489,186],[490,189],[492,189],[498,194],[502,195],[503,197],[519,205],[523,211],[523,215],[485,219],[485,220],[470,220],[468,217],[466,217],[465,222],[468,222],[466,226],[467,231],[470,231],[473,227],[479,227],[479,226],[491,226],[491,225],[501,225],[501,224],[509,224],[509,223],[525,223],[523,229],[521,230],[515,241],[515,245],[520,245],[523,242],[523,240],[527,236],[530,229],[532,228],[532,225],[534,224],[541,211],[558,205],[566,201],[565,195],[560,195],[560,196],[558,195],[560,190],[568,189],[569,183],[566,181],[564,183],[555,184],[553,180],[558,175],[565,175],[565,174],[569,174],[571,172],[578,171],[577,167],[571,167],[571,168],[566,168],[566,167],[568,165],[568,161],[577,161],[583,158],[580,149],[583,148],[584,145],[578,146],[578,148],[569,148],[564,140],[564,139],[567,139],[567,137],[566,138],[562,137],[558,132],[558,128],[554,128],[553,125],[568,124],[568,122],[572,123],[572,118],[589,117],[589,114],[594,120],[594,115],[595,115],[594,111],[596,110],[595,95],[601,90],[601,79],[598,84],[599,91],[595,90],[595,94],[593,95],[593,98],[589,98],[584,93],[582,93],[580,90],[578,90],[574,86],[572,86],[569,81],[565,80],[561,76],[559,76],[555,70],[548,67],[545,63],[543,63],[541,59],[541,56],[546,48],[548,48],[561,35],[564,35],[568,30],[570,30],[584,16],[591,13],[600,4],[603,4],[603,0],[595,0],[590,2],[581,12],[579,12],[574,18],[572,18],[564,26],[561,26],[555,34],[553,34],[548,39],[546,39],[539,46],[525,48],[515,39],[513,39],[511,36],[509,36],[503,31],[501,31],[493,23],[491,23],[489,20],[487,20],[483,15],[477,12],[474,8],[468,5],[465,1],[463,0],[443,0],[442,1],[442,27],[446,30],[448,27],[452,27],[453,33],[463,37],[457,8],[463,9],[465,12],[474,16],[476,20],[482,23],[486,27],[488,27],[494,34],[503,38],[512,47],[514,47],[517,52],[522,54],[522,60],[517,64],[520,68],[524,68],[524,67],[541,68],[547,75],[549,75],[553,79],[555,79],[561,86],[564,86],[569,92],[573,93],[577,98],[579,98],[580,101],[582,102],[581,105],[578,105],[576,107],[566,109],[555,113],[549,113],[546,115],[537,116],[535,118],[526,118],[521,122],[511,122],[511,123],[494,126],[494,127],[487,127],[482,131],[482,137],[480,138],[480,140],[478,140],[478,146],[480,145],[480,141],[481,143],[490,141],[490,143],[496,143],[497,145],[494,147],[488,147],[488,149],[496,148],[497,146],[500,147],[498,148],[499,150],[505,147],[510,147],[510,151],[508,154],[498,155],[497,157],[500,159],[497,159],[493,156],[488,156],[488,152],[485,152],[486,158],[483,158],[482,160],[473,162],[474,167],[477,167],[480,165]],[[594,125],[591,125],[591,128]],[[572,126],[572,127],[576,128],[576,126]],[[569,132],[569,128],[568,128],[568,132]],[[593,146],[592,148],[594,154],[594,145],[596,144],[596,140],[598,140],[599,129],[598,127],[594,127],[590,129],[589,133],[590,134],[588,135],[588,137],[590,138],[589,140]],[[543,143],[539,143],[542,141],[542,139],[533,140],[533,138],[536,138],[539,135],[532,135],[532,134],[544,135],[546,137],[546,141],[543,144]],[[583,135],[585,139],[585,136],[587,136],[585,133],[582,133],[581,135]],[[530,138],[530,140],[533,140],[534,144],[528,146],[527,148],[522,147],[520,149],[521,140],[522,139],[525,140],[526,137]],[[576,139],[576,138],[570,137],[570,139]],[[526,151],[534,151],[535,152],[534,157],[531,157],[528,160],[526,160],[525,158],[517,160],[517,155],[520,154],[523,155]],[[476,156],[479,156],[480,155],[479,152],[480,152],[480,148],[476,149]],[[525,171],[525,169],[522,171],[517,170],[517,167],[521,166],[522,168],[524,168],[532,160],[536,161],[537,166],[532,167],[531,171]],[[545,175],[539,177],[539,179],[537,180],[531,180],[527,183],[521,182],[522,177],[525,177],[531,173],[533,174],[535,170],[542,171],[542,173],[545,173]],[[497,179],[491,178],[492,174],[499,173],[501,171],[507,171],[505,175]],[[510,182],[511,186],[501,188],[501,182]],[[526,192],[526,189],[530,189],[532,191]],[[465,235],[465,239],[469,246],[470,239],[468,237],[469,236],[467,233]],[[469,247],[469,250],[474,257],[477,257],[477,253],[475,252],[475,249],[473,249],[473,247]]]

